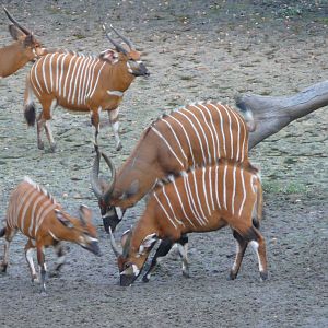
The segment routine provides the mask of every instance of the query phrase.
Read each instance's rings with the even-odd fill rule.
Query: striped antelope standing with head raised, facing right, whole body
[[[27,125],[33,126],[35,124],[34,94],[43,107],[37,118],[39,149],[44,148],[42,131],[45,129],[50,148],[55,151],[56,144],[49,119],[57,105],[74,112],[91,113],[91,122],[95,128],[95,142],[99,130],[99,114],[102,110],[108,112],[116,149],[121,149],[118,133],[118,106],[134,78],[149,75],[149,71],[133,44],[113,26],[110,27],[126,43],[129,50],[106,34],[115,50],[107,49],[99,56],[55,51],[42,57],[32,67],[26,79],[24,114]]]

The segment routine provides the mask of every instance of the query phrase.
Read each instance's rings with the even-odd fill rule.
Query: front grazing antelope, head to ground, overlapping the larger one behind
[[[258,230],[261,212],[261,183],[253,171],[220,162],[183,172],[179,177],[155,187],[141,219],[124,235],[122,253],[110,231],[113,250],[118,256],[120,284],[130,285],[138,278],[157,239],[172,246],[184,234],[215,231],[226,225],[237,241],[230,278],[237,277],[250,244],[258,256],[260,278],[267,279],[266,243]],[[150,273],[151,270],[147,279]]]

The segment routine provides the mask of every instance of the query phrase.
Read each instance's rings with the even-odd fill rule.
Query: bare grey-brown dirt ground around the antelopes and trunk
[[[289,3],[286,5],[285,3]],[[137,79],[121,106],[124,149],[102,117],[101,147],[117,166],[142,129],[161,113],[188,102],[234,104],[236,93],[293,94],[327,79],[328,1],[1,1],[47,46],[98,54],[109,47],[101,24],[125,31],[151,71]],[[1,13],[0,45],[11,42]],[[23,120],[24,80],[31,65],[0,86],[0,211],[27,175],[71,212],[94,210],[104,256],[68,245],[69,263],[48,280],[47,297],[32,286],[23,255],[12,243],[0,277],[0,327],[328,327],[327,108],[261,142],[266,198],[262,233],[270,276],[259,281],[248,250],[238,279],[227,281],[235,242],[229,230],[190,235],[191,278],[171,254],[145,284],[118,285],[118,270],[90,188],[93,160],[89,116],[56,109],[57,153],[39,151]],[[140,215],[129,210],[120,232]],[[3,244],[3,241],[0,241]],[[2,248],[2,247],[1,247]],[[2,251],[2,250],[1,250]],[[2,256],[2,254],[0,255]],[[55,256],[47,251],[48,267]]]

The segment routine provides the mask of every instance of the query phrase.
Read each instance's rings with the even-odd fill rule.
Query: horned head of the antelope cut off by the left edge
[[[42,47],[42,44],[34,37],[33,33],[22,26],[5,8],[3,8],[3,10],[9,20],[13,23],[9,25],[9,32],[12,38],[21,46],[24,57],[28,61],[33,61],[37,57],[43,56],[45,48]]]

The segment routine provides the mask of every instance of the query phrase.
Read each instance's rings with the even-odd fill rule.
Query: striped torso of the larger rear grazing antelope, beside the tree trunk
[[[165,144],[161,160],[180,169],[211,165],[219,159],[248,163],[248,130],[230,106],[197,103],[181,107],[151,126],[153,139]]]

